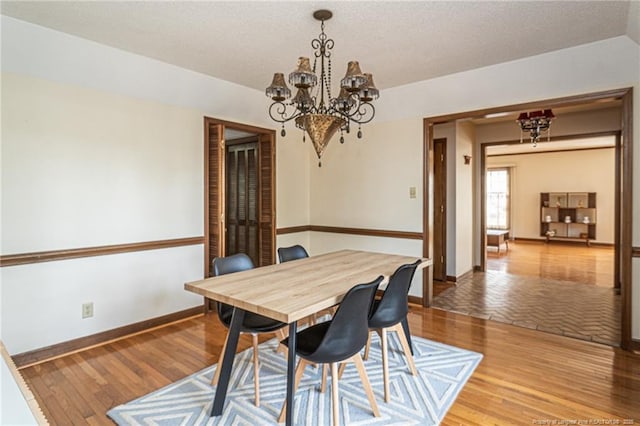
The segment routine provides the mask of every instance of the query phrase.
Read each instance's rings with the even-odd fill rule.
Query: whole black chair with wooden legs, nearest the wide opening
[[[382,375],[384,381],[384,401],[389,402],[391,395],[389,392],[389,348],[387,332],[395,331],[404,355],[409,364],[409,370],[414,376],[417,374],[413,361],[409,339],[411,336],[406,333],[403,323],[407,321],[409,313],[409,287],[416,272],[416,268],[422,262],[402,265],[391,275],[389,284],[382,294],[382,298],[373,302],[371,317],[369,318],[369,329],[376,331],[380,335],[382,347]],[[369,357],[369,347],[371,344],[371,334],[367,340],[367,347],[364,351],[364,359]]]

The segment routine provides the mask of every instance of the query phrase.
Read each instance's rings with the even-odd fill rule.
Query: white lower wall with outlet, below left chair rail
[[[2,268],[3,340],[21,353],[202,303],[202,245]],[[82,304],[94,302],[93,318]]]

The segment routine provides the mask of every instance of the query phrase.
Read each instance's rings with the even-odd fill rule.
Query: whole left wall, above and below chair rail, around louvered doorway
[[[3,16],[2,254],[202,236],[203,117],[269,127],[267,101]],[[278,140],[277,159],[278,226],[306,224],[307,152]],[[203,257],[196,245],[3,267],[2,339],[16,354],[197,306],[183,284]]]

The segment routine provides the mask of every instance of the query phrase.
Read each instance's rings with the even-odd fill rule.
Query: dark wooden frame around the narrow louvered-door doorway
[[[225,152],[225,141],[224,141],[224,129],[225,128],[229,128],[229,129],[234,129],[234,130],[240,130],[240,131],[244,131],[244,132],[250,132],[250,133],[255,133],[256,134],[256,138],[258,140],[260,140],[261,138],[266,138],[268,140],[268,143],[270,144],[270,149],[271,149],[271,155],[268,158],[268,161],[265,163],[260,163],[259,167],[264,169],[263,172],[268,173],[270,175],[270,179],[271,179],[271,191],[270,191],[270,200],[263,200],[262,199],[262,194],[259,194],[260,197],[260,206],[262,205],[263,201],[266,201],[267,204],[270,206],[270,212],[269,212],[269,217],[271,218],[271,232],[269,233],[269,239],[270,241],[267,242],[261,242],[260,245],[260,254],[262,254],[262,244],[267,244],[268,246],[271,247],[271,263],[275,262],[275,246],[276,246],[276,145],[275,145],[275,141],[276,141],[276,132],[275,130],[272,129],[267,129],[267,128],[263,128],[263,127],[257,127],[257,126],[252,126],[252,125],[248,125],[248,124],[243,124],[243,123],[236,123],[236,122],[231,122],[231,121],[226,121],[226,120],[220,120],[217,118],[212,118],[212,117],[204,117],[204,170],[203,170],[203,182],[204,182],[204,203],[203,203],[203,219],[204,219],[204,276],[208,277],[210,274],[210,265],[209,265],[209,259],[211,256],[210,253],[210,228],[209,228],[209,218],[211,215],[211,211],[209,208],[209,196],[210,196],[210,191],[209,191],[209,170],[210,170],[210,166],[209,166],[209,150],[211,149],[211,142],[210,142],[210,132],[209,132],[209,128],[211,125],[220,125],[222,126],[222,133],[221,136],[218,138],[218,141],[221,143],[221,145],[218,146],[219,149],[222,150],[223,154]],[[260,142],[258,142],[258,158],[259,160],[261,159],[261,155],[260,155]],[[221,191],[221,203],[222,203],[222,211],[225,211],[225,193],[226,193],[226,183],[225,183],[225,170],[226,170],[226,155],[221,155],[219,156],[219,161],[220,161],[220,165],[219,165],[219,170],[221,173],[221,184],[220,187],[222,188]],[[260,172],[260,170],[259,170]],[[262,207],[260,207],[262,208]],[[222,226],[224,227],[224,223],[222,224]],[[260,234],[262,235],[261,230],[259,231]],[[219,246],[221,247],[221,251],[222,253],[216,253],[216,256],[223,256],[224,255],[224,238],[225,236],[221,236],[220,237],[222,240],[222,244]]]

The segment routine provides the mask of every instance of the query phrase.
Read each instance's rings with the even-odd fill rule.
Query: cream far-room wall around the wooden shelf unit
[[[500,155],[488,157],[487,167],[512,167],[512,237],[542,238],[541,192],[595,192],[595,241],[614,243],[614,148]]]

